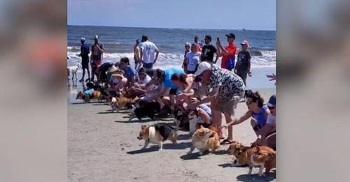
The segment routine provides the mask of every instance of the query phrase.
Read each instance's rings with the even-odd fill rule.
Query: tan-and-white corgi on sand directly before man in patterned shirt
[[[219,147],[218,133],[209,128],[200,126],[200,129],[196,130],[193,134],[191,149],[188,151],[188,154],[192,153],[195,149],[200,151],[200,155],[205,151],[209,151],[209,149],[211,149],[211,153],[214,153]]]

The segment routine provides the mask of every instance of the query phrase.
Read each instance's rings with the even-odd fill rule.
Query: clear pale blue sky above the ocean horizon
[[[67,24],[276,30],[275,0],[68,0]]]

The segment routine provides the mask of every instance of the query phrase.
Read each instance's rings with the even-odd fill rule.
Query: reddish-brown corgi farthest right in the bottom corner
[[[276,152],[267,146],[263,149],[262,146],[256,146],[250,161],[248,174],[251,174],[253,167],[259,167],[259,176],[263,175],[262,170],[264,167],[265,174],[268,174],[269,170],[276,168]]]

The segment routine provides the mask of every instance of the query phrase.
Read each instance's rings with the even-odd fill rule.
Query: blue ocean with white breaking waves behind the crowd
[[[243,40],[248,40],[251,50],[261,52],[262,55],[253,54],[251,59],[252,77],[247,79],[248,89],[274,89],[274,82],[269,82],[265,75],[276,73],[276,31],[255,30],[223,30],[223,29],[160,29],[160,28],[136,28],[114,26],[67,26],[67,60],[68,66],[80,61],[80,38],[85,37],[85,43],[92,45],[94,35],[99,36],[99,41],[104,45],[104,61],[117,62],[121,57],[127,56],[134,65],[133,47],[135,40],[142,35],[148,36],[160,50],[155,68],[181,68],[185,43],[193,43],[195,36],[204,40],[205,35],[213,39],[220,38],[221,43],[227,45],[225,34],[235,33],[237,48]],[[218,66],[220,66],[219,59]],[[80,70],[79,72],[82,72]]]

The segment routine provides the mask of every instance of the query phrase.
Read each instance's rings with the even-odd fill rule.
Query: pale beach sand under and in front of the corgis
[[[259,89],[267,102],[275,89]],[[217,153],[200,156],[197,150],[188,155],[190,136],[179,131],[178,144],[167,141],[163,150],[137,139],[141,125],[174,123],[172,119],[129,120],[127,111],[111,113],[102,103],[81,103],[68,99],[68,179],[69,181],[276,181],[276,173],[265,177],[248,176],[248,167],[234,167],[232,156],[222,145]],[[246,112],[239,103],[236,116]],[[225,122],[225,121],[223,121]],[[224,132],[227,133],[227,130]],[[247,120],[234,127],[234,139],[243,144],[256,137]]]

